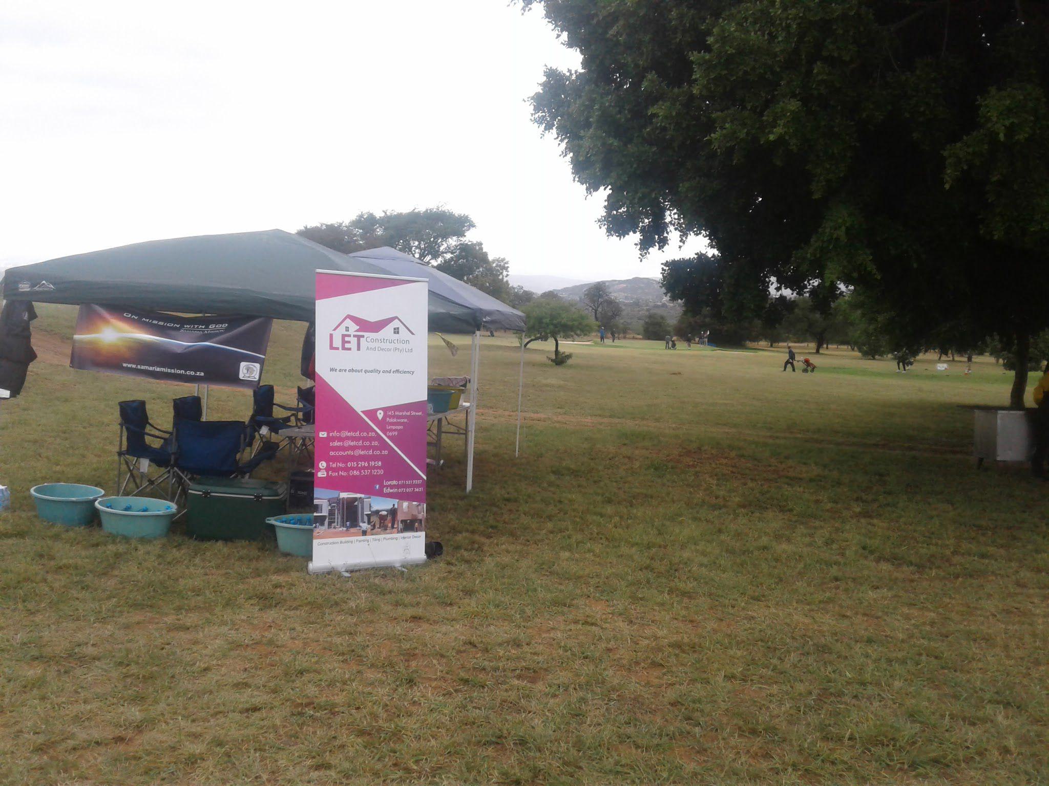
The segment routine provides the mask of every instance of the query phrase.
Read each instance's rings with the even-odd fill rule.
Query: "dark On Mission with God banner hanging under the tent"
[[[74,369],[195,385],[256,388],[273,320],[174,316],[83,305],[72,337]]]

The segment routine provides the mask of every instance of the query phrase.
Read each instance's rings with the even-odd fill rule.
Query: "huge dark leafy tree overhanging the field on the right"
[[[533,106],[606,230],[709,241],[665,269],[686,307],[844,284],[913,340],[958,321],[1019,357],[1049,327],[1045,3],[521,1],[582,56]]]

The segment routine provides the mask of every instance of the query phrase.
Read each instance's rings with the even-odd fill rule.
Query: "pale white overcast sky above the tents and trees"
[[[513,274],[658,276],[531,122],[577,62],[504,0],[3,0],[0,266],[444,203]]]

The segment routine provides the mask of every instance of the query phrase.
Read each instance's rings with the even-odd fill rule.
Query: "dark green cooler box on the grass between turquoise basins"
[[[198,478],[186,500],[186,534],[206,541],[257,541],[265,520],[283,516],[287,484],[251,478]]]

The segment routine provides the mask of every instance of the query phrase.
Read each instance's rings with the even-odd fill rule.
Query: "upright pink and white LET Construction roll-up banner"
[[[313,573],[426,561],[425,279],[317,272]]]

